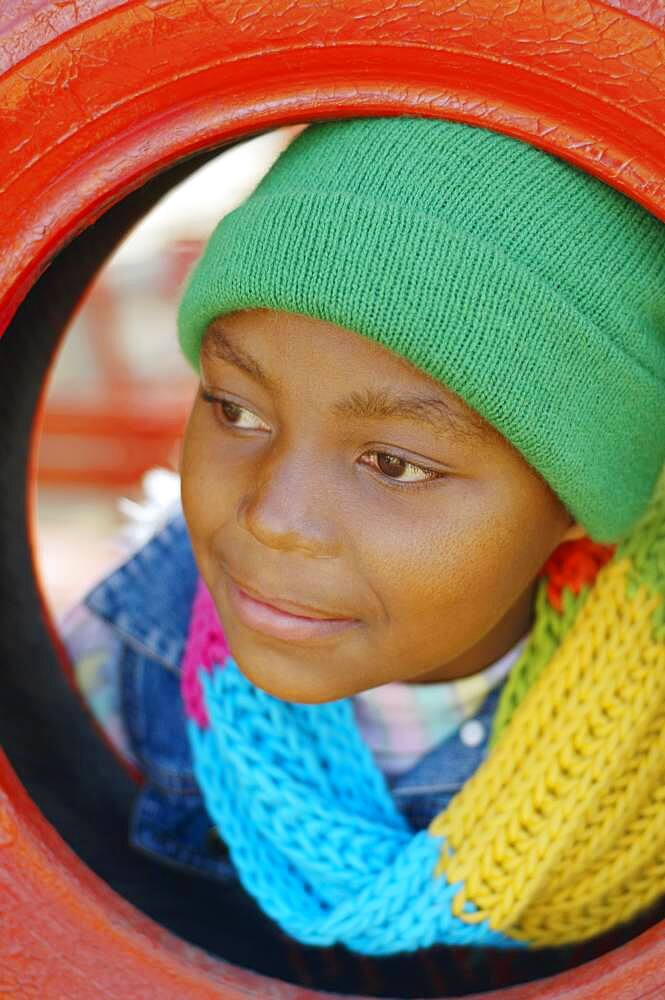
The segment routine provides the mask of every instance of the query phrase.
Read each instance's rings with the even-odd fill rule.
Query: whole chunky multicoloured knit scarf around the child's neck
[[[487,759],[420,831],[350,699],[256,688],[195,602],[195,774],[245,888],[292,937],[372,955],[554,946],[665,894],[665,475],[618,546],[564,543],[541,577]]]

